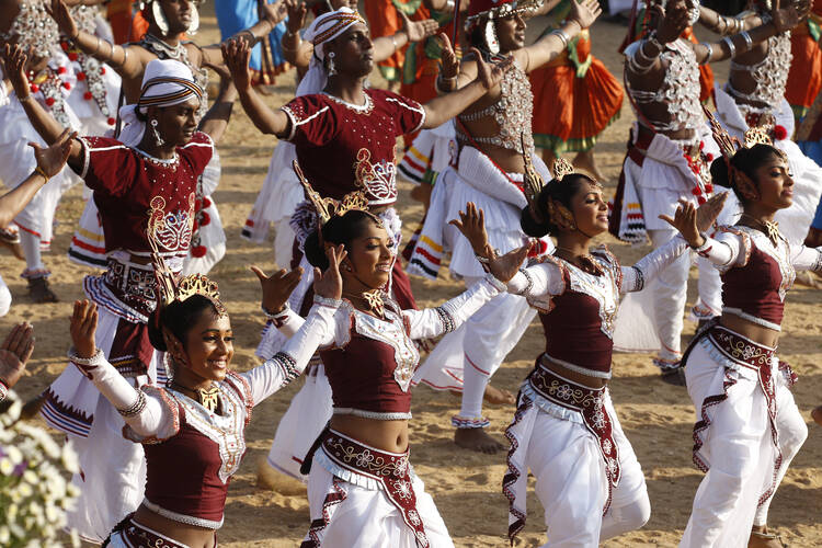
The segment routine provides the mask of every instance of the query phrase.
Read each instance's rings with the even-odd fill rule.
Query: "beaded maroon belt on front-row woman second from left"
[[[416,511],[416,494],[411,483],[409,452],[387,453],[363,445],[351,437],[328,429],[321,436],[322,452],[341,468],[366,476],[383,484],[388,499],[397,506],[416,538],[416,546],[427,548],[422,517]]]

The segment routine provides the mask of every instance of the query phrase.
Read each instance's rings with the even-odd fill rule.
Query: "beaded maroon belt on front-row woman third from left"
[[[590,388],[578,385],[552,370],[537,364],[528,376],[530,387],[540,397],[558,406],[582,414],[585,427],[594,434],[600,453],[605,460],[605,476],[608,479],[608,499],[603,514],[610,507],[614,488],[619,483],[619,449],[614,441],[612,419],[605,407],[605,387]]]

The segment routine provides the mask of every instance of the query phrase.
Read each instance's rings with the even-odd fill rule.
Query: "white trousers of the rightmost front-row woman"
[[[705,340],[704,340],[705,341]],[[699,483],[688,525],[681,547],[742,548],[747,546],[751,527],[767,523],[773,500],[758,504],[761,495],[774,481],[775,448],[765,395],[756,373],[742,368],[726,370],[709,352],[710,342],[698,343],[688,356],[685,376],[688,393],[703,419],[703,402],[721,395],[728,377],[735,383],[728,388],[728,399],[705,411],[711,424],[703,433],[700,454],[710,470]],[[779,433],[781,466],[776,484],[781,481],[794,456],[808,437],[804,424],[787,381],[778,370],[776,383],[776,427]]]

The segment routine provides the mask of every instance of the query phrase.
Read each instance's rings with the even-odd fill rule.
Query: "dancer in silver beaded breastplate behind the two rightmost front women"
[[[694,44],[682,38],[683,31],[699,16],[692,0],[650,0],[649,31],[625,49],[625,83],[637,116],[637,125],[620,176],[612,231],[626,241],[665,244],[675,232],[659,220],[673,215],[680,198],[694,203],[706,199],[712,186],[708,158],[719,151],[710,138],[699,103],[699,65],[749,52],[774,34],[797,24],[794,7],[774,4],[773,21],[740,32],[715,44]],[[667,380],[681,384],[681,335],[690,259],[682,255],[660,274],[649,295],[651,326],[655,339],[648,350],[657,351],[654,365]],[[710,266],[699,262],[700,293],[706,283],[716,283]],[[625,306],[640,295],[626,298]],[[635,330],[636,335],[641,335]],[[632,333],[633,334],[633,333]],[[633,341],[623,344],[633,344]]]

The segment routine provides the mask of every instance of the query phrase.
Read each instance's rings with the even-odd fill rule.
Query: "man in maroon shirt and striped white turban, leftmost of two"
[[[43,139],[54,142],[62,129],[28,99],[24,64],[20,48],[7,49],[5,67],[15,93]],[[136,387],[164,377],[159,354],[148,341],[155,281],[145,228],[151,216],[168,218],[161,252],[179,272],[191,244],[197,179],[212,158],[212,136],[222,134],[230,114],[218,98],[201,123],[203,132],[196,132],[203,92],[179,61],[151,61],[142,90],[137,104],[121,111],[126,123],[121,140],[81,137],[72,141],[68,158],[94,191],[105,235],[107,269],[83,281],[87,295],[101,307],[99,344]],[[82,473],[73,481],[81,498],[68,514],[69,526],[100,543],[142,498],[142,449],[123,441],[122,418],[76,369],[64,370],[45,400],[43,416],[68,434],[80,457]]]

